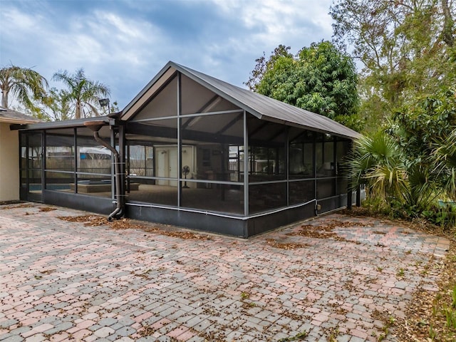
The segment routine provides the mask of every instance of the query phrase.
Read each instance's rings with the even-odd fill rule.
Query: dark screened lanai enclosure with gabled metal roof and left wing
[[[16,128],[22,199],[239,237],[345,207],[358,137],[172,62],[120,113]]]

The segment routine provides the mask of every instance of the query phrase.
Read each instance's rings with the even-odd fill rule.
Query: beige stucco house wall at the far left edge
[[[19,133],[0,123],[0,201],[19,199]]]

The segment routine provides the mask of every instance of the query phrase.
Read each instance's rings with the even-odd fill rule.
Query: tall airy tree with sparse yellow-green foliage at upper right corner
[[[388,117],[454,83],[455,11],[449,0],[333,2],[333,39],[339,47],[348,43],[363,63],[360,92],[368,115],[378,118],[375,110],[383,110],[380,117]]]

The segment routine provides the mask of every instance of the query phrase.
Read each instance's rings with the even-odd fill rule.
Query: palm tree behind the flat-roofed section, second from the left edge
[[[99,116],[98,99],[110,95],[108,86],[97,81],[92,81],[86,78],[82,68],[76,73],[68,73],[68,71],[59,71],[54,73],[53,80],[65,83],[68,88],[68,99],[74,105],[74,118],[87,118],[90,116]]]

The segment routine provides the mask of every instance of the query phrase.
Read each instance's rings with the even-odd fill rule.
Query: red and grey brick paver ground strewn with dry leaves
[[[341,214],[182,239],[29,205],[0,206],[1,341],[377,341],[378,315],[404,316],[413,291],[436,289],[449,246]]]

